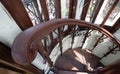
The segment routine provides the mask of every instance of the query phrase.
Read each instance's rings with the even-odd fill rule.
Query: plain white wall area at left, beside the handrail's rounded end
[[[20,32],[21,29],[0,3],[0,41],[11,47]]]

